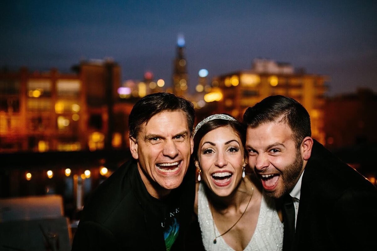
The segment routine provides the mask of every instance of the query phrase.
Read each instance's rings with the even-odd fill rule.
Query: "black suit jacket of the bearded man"
[[[377,250],[377,190],[314,141],[302,177],[294,250]]]

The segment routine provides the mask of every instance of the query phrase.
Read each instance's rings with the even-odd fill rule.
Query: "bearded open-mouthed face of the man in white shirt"
[[[307,151],[304,143],[299,148],[296,146],[292,131],[284,122],[267,122],[256,128],[248,126],[248,162],[267,195],[280,198],[297,183],[305,167],[302,156],[305,154],[306,158]]]

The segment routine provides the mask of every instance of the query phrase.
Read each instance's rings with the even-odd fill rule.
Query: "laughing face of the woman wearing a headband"
[[[202,180],[218,196],[230,195],[242,178],[245,163],[240,137],[229,126],[216,128],[202,137],[196,166]]]

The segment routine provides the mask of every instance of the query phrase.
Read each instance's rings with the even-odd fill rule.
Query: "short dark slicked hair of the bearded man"
[[[277,121],[280,117],[281,120]],[[282,95],[270,96],[247,108],[244,123],[256,128],[266,122],[285,122],[291,128],[297,147],[311,136],[308,111],[296,100]]]

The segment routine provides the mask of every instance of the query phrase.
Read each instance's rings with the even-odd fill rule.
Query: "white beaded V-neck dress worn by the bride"
[[[222,236],[216,238],[219,233],[215,225],[216,235],[213,229],[213,218],[205,195],[204,184],[199,184],[198,191],[198,221],[202,231],[202,242],[207,251],[233,251]],[[245,251],[281,251],[283,248],[284,225],[280,222],[275,208],[274,199],[262,194],[261,208],[257,226]]]

